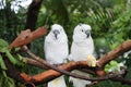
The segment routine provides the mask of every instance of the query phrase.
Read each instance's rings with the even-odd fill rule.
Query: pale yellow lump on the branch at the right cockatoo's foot
[[[88,54],[86,62],[87,62],[88,66],[95,67],[97,61],[96,61],[96,58],[94,55]]]

